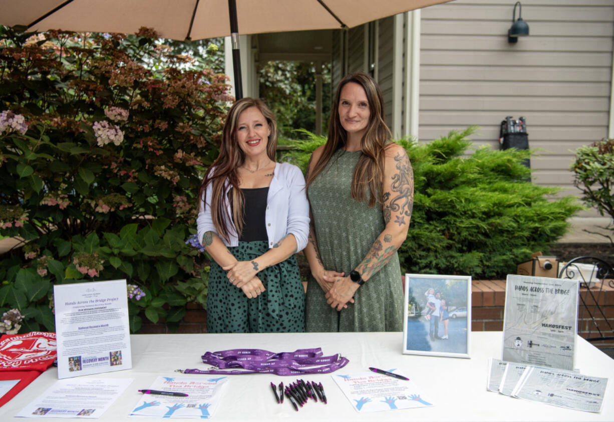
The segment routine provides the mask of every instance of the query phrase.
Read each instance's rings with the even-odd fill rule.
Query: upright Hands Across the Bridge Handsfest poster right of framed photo
[[[504,361],[572,370],[577,327],[577,280],[507,276]]]

